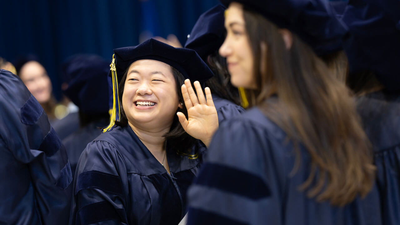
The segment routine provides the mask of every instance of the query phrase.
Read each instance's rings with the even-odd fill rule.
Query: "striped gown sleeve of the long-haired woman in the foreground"
[[[281,187],[274,177],[284,177],[283,171],[264,160],[279,164],[282,159],[268,155],[266,139],[246,121],[226,121],[218,129],[188,191],[188,225],[281,224],[274,193]]]

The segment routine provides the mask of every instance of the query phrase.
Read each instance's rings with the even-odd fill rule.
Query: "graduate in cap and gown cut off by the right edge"
[[[374,150],[382,224],[400,224],[400,2],[354,0],[344,11],[350,35],[348,86]]]

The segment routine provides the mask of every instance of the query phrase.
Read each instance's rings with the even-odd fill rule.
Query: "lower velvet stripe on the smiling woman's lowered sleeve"
[[[79,209],[76,215],[76,225],[88,225],[107,220],[122,222],[117,210],[106,201],[86,205]]]

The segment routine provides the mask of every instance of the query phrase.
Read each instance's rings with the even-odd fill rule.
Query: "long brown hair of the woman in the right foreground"
[[[279,28],[264,16],[245,7],[244,20],[253,56],[260,59],[254,62],[258,88],[246,90],[250,106],[258,106],[294,143],[292,174],[301,161],[299,144],[310,154],[312,169],[299,189],[340,206],[365,196],[375,166],[350,90],[296,34],[286,50]],[[272,95],[278,100],[266,101]]]

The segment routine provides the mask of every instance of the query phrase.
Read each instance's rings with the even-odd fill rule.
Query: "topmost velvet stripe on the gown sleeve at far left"
[[[29,99],[21,107],[21,122],[27,125],[33,125],[38,121],[43,111],[42,106],[40,106],[39,102],[31,94]]]

